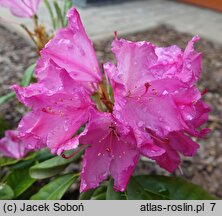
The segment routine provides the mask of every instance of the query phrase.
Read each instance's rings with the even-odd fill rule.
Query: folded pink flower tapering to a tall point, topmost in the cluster
[[[101,81],[101,72],[92,42],[89,40],[75,8],[68,14],[68,26],[59,30],[41,51],[41,61],[52,59],[90,91]],[[38,71],[36,71],[38,73]]]

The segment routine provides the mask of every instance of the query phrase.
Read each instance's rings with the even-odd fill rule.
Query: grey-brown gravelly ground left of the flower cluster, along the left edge
[[[11,92],[10,86],[21,81],[24,70],[34,63],[36,53],[23,38],[0,25],[0,96]],[[0,106],[0,117],[13,127],[24,113],[17,99]]]

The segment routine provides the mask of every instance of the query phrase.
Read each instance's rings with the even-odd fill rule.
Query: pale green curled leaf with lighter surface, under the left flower
[[[52,177],[64,170],[71,162],[78,160],[83,151],[77,153],[71,159],[64,159],[61,156],[51,158],[30,168],[30,176],[35,179],[45,179]]]

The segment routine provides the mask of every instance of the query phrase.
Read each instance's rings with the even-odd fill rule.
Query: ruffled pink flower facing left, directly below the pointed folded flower
[[[48,146],[60,154],[75,148],[68,141],[87,121],[92,101],[64,69],[52,60],[44,63],[38,67],[38,83],[25,88],[13,86],[20,102],[32,109],[18,130],[27,148]]]

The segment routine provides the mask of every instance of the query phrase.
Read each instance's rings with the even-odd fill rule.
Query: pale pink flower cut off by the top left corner
[[[41,0],[0,0],[0,6],[7,7],[18,17],[30,18],[36,14]]]

